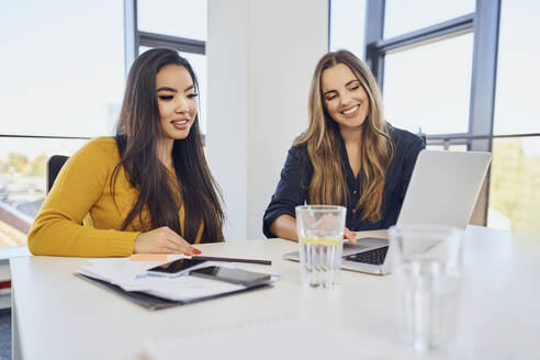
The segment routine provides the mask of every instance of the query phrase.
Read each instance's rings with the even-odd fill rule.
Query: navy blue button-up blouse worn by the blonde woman
[[[397,222],[397,215],[402,209],[416,158],[418,153],[426,147],[421,137],[407,131],[392,127],[390,124],[387,126],[389,134],[394,143],[394,157],[386,172],[381,220],[375,223],[371,223],[368,220],[360,221],[362,209],[355,210],[360,199],[360,185],[350,167],[345,143],[342,139],[340,142],[347,188],[351,200],[348,201],[347,205],[346,226],[352,232],[389,228]],[[270,232],[270,225],[275,218],[283,214],[295,217],[294,207],[308,202],[308,187],[312,176],[313,166],[306,146],[291,147],[283,170],[281,170],[278,189],[275,189],[275,193],[272,195],[272,200],[265,212],[262,232],[267,237],[275,237]]]

